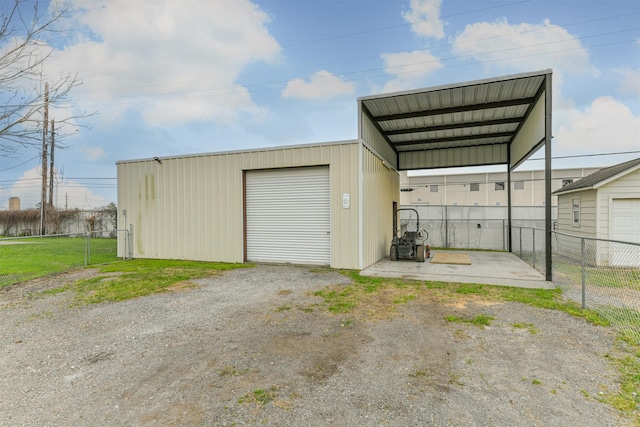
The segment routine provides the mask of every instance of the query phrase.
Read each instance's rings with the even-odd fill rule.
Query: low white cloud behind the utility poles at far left
[[[40,169],[29,169],[8,189],[9,197],[19,197],[22,209],[34,208],[40,203],[41,183]],[[105,206],[108,202],[76,181],[62,180],[54,186],[53,203],[61,209],[65,206],[69,209],[91,209]]]

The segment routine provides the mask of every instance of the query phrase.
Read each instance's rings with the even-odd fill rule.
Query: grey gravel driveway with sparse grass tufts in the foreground
[[[629,424],[598,400],[613,330],[562,312],[425,293],[333,315],[313,291],[348,277],[265,265],[120,303],[33,297],[91,274],[0,290],[1,425]],[[477,314],[495,320],[445,320]]]

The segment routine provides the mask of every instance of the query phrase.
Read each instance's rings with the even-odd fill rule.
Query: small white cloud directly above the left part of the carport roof
[[[395,75],[388,81],[383,92],[396,92],[420,86],[424,77],[444,66],[433,54],[424,50],[413,52],[383,53],[384,71]]]

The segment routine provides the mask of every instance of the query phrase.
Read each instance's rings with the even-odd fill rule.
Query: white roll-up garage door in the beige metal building
[[[246,173],[247,260],[329,265],[329,167]]]

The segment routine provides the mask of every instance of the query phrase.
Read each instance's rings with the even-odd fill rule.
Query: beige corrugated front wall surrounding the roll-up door
[[[243,171],[329,165],[331,266],[359,267],[358,141],[118,163],[118,223],[133,256],[242,262]],[[342,206],[350,195],[348,209]],[[123,209],[127,210],[126,222]],[[120,254],[124,248],[120,247]]]

